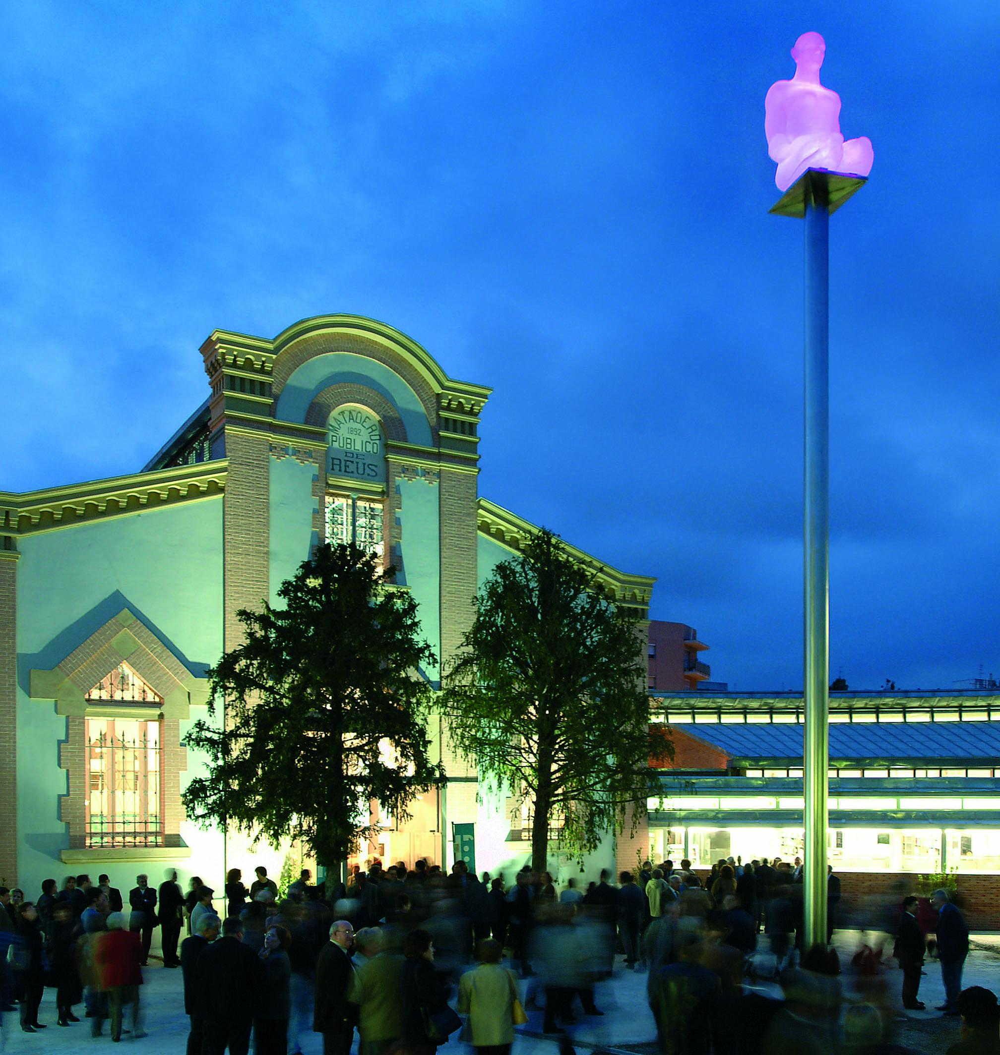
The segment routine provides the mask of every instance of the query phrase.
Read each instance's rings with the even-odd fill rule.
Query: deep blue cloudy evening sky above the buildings
[[[871,180],[831,223],[831,669],[1000,675],[996,3],[8,3],[0,486],[133,472],[214,328],[329,311],[495,389],[480,492],[801,684],[799,33]]]

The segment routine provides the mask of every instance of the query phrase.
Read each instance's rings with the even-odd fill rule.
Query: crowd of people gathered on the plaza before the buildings
[[[158,888],[136,878],[128,916],[103,875],[96,885],[68,877],[61,890],[46,880],[36,902],[0,887],[0,1008],[16,1003],[24,1032],[43,1030],[49,985],[57,1025],[80,1022],[82,1003],[94,1036],[106,1021],[113,1041],[144,1036],[143,967],[159,927],[164,966],[183,974],[188,1055],[242,1055],[251,1037],[259,1055],[286,1055],[309,1030],[325,1055],[348,1055],[355,1033],[359,1055],[432,1055],[456,1034],[478,1055],[509,1055],[514,1027],[527,1021],[522,992],[542,1011],[542,1031],[566,1043],[581,1015],[602,1015],[596,984],[617,955],[647,973],[664,1055],[827,1055],[845,1046],[885,1055],[903,1051],[891,1043],[888,961],[902,967],[904,1008],[923,1009],[930,952],[946,993],[940,1010],[963,1022],[949,1055],[1000,1053],[996,997],[962,989],[968,929],[944,890],[929,906],[906,897],[842,966],[829,944],[804,947],[801,871],[798,859],[729,858],[702,880],[690,861],[646,861],[617,884],[604,871],[559,889],[527,867],[508,885],[461,861],[450,872],[375,861],[332,888],[303,870],[284,896],[264,867],[249,888],[231,869],[218,896],[199,877],[184,893],[169,871]],[[839,903],[830,871],[831,928]]]

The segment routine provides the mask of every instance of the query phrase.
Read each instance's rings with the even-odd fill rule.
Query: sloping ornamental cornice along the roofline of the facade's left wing
[[[44,491],[0,492],[0,522],[5,532],[30,535],[211,498],[225,488],[228,464],[226,459],[219,459]]]

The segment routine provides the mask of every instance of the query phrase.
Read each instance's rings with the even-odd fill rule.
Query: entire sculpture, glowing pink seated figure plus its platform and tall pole
[[[841,97],[819,83],[826,44],[804,33],[792,49],[795,75],[772,84],[765,100],[768,153],[785,193],[778,216],[804,218],[805,328],[805,744],[806,828],[803,884],[806,948],[827,943],[827,775],[830,638],[830,214],[865,184],[873,152],[866,137],[844,139]]]

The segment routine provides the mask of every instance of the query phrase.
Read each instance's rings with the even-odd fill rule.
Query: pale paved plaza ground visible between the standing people
[[[994,935],[973,936],[976,947],[969,954],[963,976],[963,985],[983,985],[995,992],[1000,991],[1000,940]],[[842,962],[848,965],[850,955],[857,948],[857,935],[838,932],[836,944]],[[927,976],[922,980],[920,996],[926,1002],[925,1012],[907,1012],[901,1017],[897,1042],[913,1048],[925,1055],[938,1055],[958,1039],[958,1019],[944,1018],[930,1010],[944,1001],[941,971],[937,963],[928,962]],[[898,995],[902,981],[895,968],[888,972],[888,986]],[[145,972],[143,987],[145,1027],[148,1036],[134,1040],[122,1037],[122,1044],[140,1046],[145,1055],[183,1055],[188,1033],[188,1020],[184,1015],[182,977],[180,970],[168,971],[152,965]],[[528,1008],[530,1021],[518,1030],[521,1034],[514,1042],[515,1055],[555,1055],[556,1042],[541,1036],[542,1013],[531,1005],[528,982],[521,982],[522,998]],[[656,1029],[653,1015],[645,999],[646,976],[640,972],[626,971],[622,958],[618,957],[614,977],[598,984],[596,1002],[604,1012],[600,1018],[584,1018],[572,1034],[573,1046],[580,1052],[655,1052]],[[777,996],[776,986],[770,986]],[[850,993],[850,980],[845,977],[845,991]],[[49,1029],[36,1035],[24,1034],[17,1023],[17,1015],[4,1016],[4,1052],[79,1052],[111,1048],[107,1024],[103,1036],[92,1039],[89,1022],[83,1020],[67,1029],[55,1024],[54,990],[45,991],[39,1020],[49,1023]],[[82,1015],[81,1006],[77,1011]],[[128,1024],[128,1023],[127,1023]],[[319,1034],[306,1032],[299,1037],[304,1055],[320,1055],[322,1038]],[[117,1050],[117,1049],[115,1049]],[[291,1050],[289,1048],[289,1050]],[[355,1051],[357,1040],[355,1040]],[[472,1049],[456,1037],[438,1049],[442,1055],[469,1052]]]

